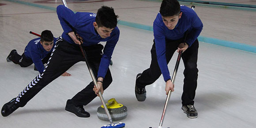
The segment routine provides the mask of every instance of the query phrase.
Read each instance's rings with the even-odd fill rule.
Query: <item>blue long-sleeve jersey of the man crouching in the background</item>
[[[53,48],[56,44],[56,38],[53,39]],[[24,54],[27,58],[31,59],[38,69],[40,74],[44,71],[45,67],[42,63],[42,59],[45,58],[49,53],[53,52],[53,48],[47,52],[40,43],[40,38],[35,38],[26,45]]]

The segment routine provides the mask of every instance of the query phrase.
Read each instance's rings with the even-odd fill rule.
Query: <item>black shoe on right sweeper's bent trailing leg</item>
[[[136,83],[137,83],[137,79],[141,76],[141,73],[139,73],[137,76],[136,76]],[[143,102],[146,100],[147,98],[147,95],[146,95],[146,89],[145,87],[143,88],[139,88],[137,87],[137,84],[135,83],[135,95],[136,95],[136,98],[139,102]]]

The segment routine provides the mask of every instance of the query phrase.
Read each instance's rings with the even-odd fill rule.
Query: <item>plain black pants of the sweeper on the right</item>
[[[167,64],[171,60],[174,52],[177,50],[178,45],[183,41],[179,40],[166,40],[166,62]],[[194,105],[194,98],[196,95],[197,87],[197,54],[198,54],[199,43],[196,41],[182,54],[182,60],[184,63],[184,85],[183,85],[183,94],[181,97],[182,105]],[[172,71],[172,70],[170,70]],[[162,74],[155,50],[155,43],[151,49],[151,65],[150,68],[142,72],[141,77],[136,80],[138,87],[145,87],[154,83]],[[170,72],[171,74],[171,72]]]

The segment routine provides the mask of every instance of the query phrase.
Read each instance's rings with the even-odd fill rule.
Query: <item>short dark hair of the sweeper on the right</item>
[[[164,17],[179,15],[181,5],[177,0],[163,0],[159,12]]]

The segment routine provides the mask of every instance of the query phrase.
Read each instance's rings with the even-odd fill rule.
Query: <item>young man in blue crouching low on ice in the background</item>
[[[44,64],[47,64],[53,48],[56,44],[56,38],[50,30],[44,30],[40,38],[35,38],[26,45],[24,53],[20,56],[16,49],[11,50],[7,56],[7,62],[19,64],[20,67],[28,67],[34,63],[34,70],[42,73],[45,69]],[[70,76],[68,72],[62,74],[63,76]]]

